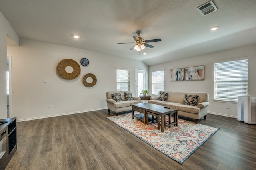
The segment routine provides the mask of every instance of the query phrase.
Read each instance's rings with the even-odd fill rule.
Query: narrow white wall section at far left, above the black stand
[[[6,100],[6,57],[7,34],[19,44],[19,37],[0,12],[0,119],[7,118]]]

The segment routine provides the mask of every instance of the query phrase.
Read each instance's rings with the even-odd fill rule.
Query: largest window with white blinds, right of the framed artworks
[[[248,59],[214,63],[214,99],[237,101],[248,96]]]

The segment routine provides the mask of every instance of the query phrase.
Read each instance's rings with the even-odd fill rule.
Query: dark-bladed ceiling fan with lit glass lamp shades
[[[161,41],[160,38],[152,39],[152,40],[144,40],[142,37],[140,37],[140,34],[141,34],[141,32],[138,31],[137,32],[138,37],[137,36],[133,36],[135,42],[131,42],[131,43],[135,43],[135,45],[133,45],[130,50],[135,49],[137,51],[141,51],[141,50],[145,49],[146,47],[154,48],[154,46],[149,45],[147,43]],[[118,44],[124,44],[124,43],[118,43]]]

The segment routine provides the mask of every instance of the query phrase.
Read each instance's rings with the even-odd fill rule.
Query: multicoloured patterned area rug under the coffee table
[[[145,125],[136,118],[132,119],[132,113],[106,118],[180,164],[219,130],[178,119],[178,127],[166,127],[164,132],[161,132],[156,123]]]

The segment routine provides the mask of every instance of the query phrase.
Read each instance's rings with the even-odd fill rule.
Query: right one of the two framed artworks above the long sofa
[[[186,80],[204,80],[204,65],[186,67],[185,79]]]

